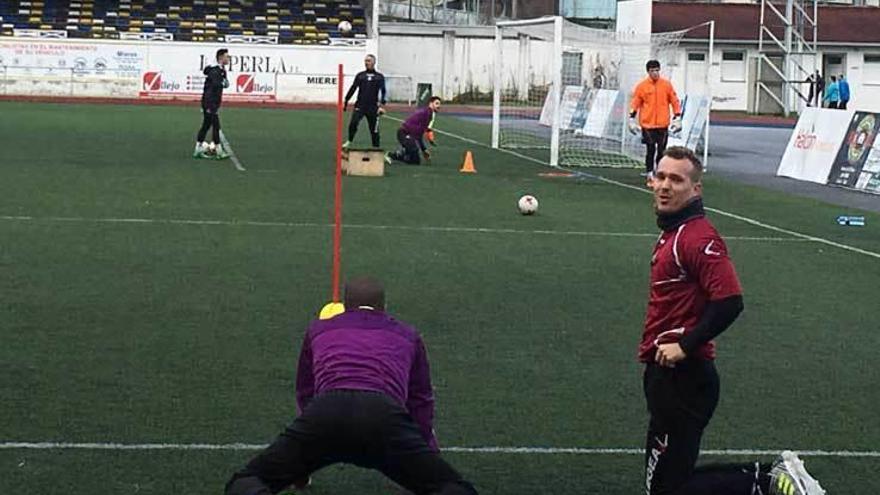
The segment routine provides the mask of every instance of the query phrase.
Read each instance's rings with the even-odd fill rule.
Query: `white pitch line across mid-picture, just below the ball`
[[[226,227],[280,227],[280,228],[331,228],[333,224],[313,222],[261,222],[251,220],[195,220],[185,218],[85,218],[85,217],[31,217],[24,215],[0,215],[0,220],[10,222],[57,222],[57,223],[119,223],[119,224],[155,224],[155,225],[201,225],[201,226],[226,226]],[[489,227],[440,227],[418,225],[373,225],[373,224],[343,224],[345,229],[362,230],[399,230],[410,232],[448,232],[470,234],[518,234],[518,235],[546,235],[563,237],[646,237],[656,238],[656,232],[601,232],[579,230],[521,230],[521,229],[496,229]],[[805,239],[792,237],[752,237],[731,236],[727,240],[754,241],[754,242],[807,242]]]

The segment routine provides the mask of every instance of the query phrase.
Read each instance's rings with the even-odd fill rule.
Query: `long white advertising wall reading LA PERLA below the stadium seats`
[[[225,101],[336,101],[363,70],[365,47],[0,38],[0,94],[197,101],[203,70],[227,48]],[[347,88],[346,88],[347,89]]]

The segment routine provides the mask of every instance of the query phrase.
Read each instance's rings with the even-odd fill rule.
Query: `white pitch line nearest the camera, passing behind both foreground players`
[[[256,443],[112,443],[112,442],[3,442],[0,450],[194,450],[194,451],[253,451],[266,448]],[[446,447],[443,452],[464,454],[528,454],[528,455],[644,455],[642,449],[632,448],[579,448],[579,447]],[[707,449],[702,455],[719,456],[773,456],[780,450],[763,449]],[[877,451],[854,450],[798,450],[805,457],[878,458]]]

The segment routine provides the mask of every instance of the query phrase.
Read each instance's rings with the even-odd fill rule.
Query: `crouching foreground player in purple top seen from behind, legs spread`
[[[344,302],[344,313],[316,320],[306,332],[297,418],[233,475],[227,495],[302,488],[312,473],[340,462],[376,469],[416,495],[475,495],[438,453],[418,332],[385,313],[385,292],[375,280],[349,281]]]

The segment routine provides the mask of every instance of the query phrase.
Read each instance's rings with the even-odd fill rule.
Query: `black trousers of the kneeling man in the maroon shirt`
[[[646,366],[644,390],[651,415],[645,445],[646,495],[769,493],[769,466],[695,468],[703,430],[718,405],[719,388],[712,361],[686,359],[675,368]]]

